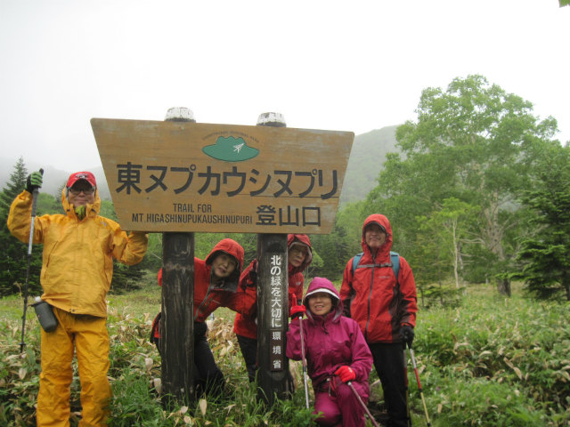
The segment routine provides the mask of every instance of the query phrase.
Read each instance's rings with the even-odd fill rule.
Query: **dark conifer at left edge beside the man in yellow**
[[[28,244],[14,238],[8,230],[6,221],[13,199],[26,187],[28,171],[22,157],[14,165],[10,180],[0,193],[0,294],[9,295],[20,292],[26,282],[28,267]],[[41,293],[39,273],[42,268],[42,245],[34,245],[30,258],[28,292]]]

